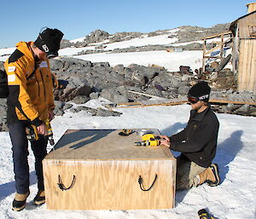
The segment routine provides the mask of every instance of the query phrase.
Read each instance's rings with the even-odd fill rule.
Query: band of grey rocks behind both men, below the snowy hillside
[[[114,103],[147,101],[151,97],[184,100],[191,85],[198,81],[191,73],[167,72],[159,66],[131,64],[112,67],[108,62],[92,63],[75,58],[52,59],[50,67],[59,81],[59,88],[54,90],[55,114],[59,116],[67,110],[86,111],[92,116],[120,115],[119,112],[73,106],[73,103],[81,105],[98,97]],[[236,92],[235,77],[229,69],[204,77],[202,79],[207,79],[212,87],[212,99],[256,101],[255,95],[250,92]],[[256,107],[251,105],[218,104],[212,108],[216,112],[256,116]],[[6,99],[0,99],[0,130],[8,130]]]

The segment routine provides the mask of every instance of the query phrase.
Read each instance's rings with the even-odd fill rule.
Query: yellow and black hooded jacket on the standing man
[[[17,49],[4,63],[9,85],[9,124],[19,120],[38,126],[55,107],[49,61],[35,63],[31,45],[32,42],[17,43]]]

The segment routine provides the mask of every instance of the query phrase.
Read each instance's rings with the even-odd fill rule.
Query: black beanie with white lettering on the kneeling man
[[[193,96],[198,98],[200,101],[208,102],[210,97],[211,88],[205,81],[201,81],[195,84],[191,89],[189,89],[188,96]]]

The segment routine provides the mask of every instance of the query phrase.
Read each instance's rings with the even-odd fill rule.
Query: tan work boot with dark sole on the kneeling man
[[[210,187],[216,187],[220,183],[218,176],[218,164],[211,164],[207,170],[204,170],[199,174],[199,184],[207,183]]]

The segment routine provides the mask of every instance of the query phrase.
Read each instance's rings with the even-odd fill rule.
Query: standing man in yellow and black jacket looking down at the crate
[[[49,58],[58,55],[63,33],[46,28],[37,40],[20,42],[17,49],[4,63],[8,75],[9,97],[7,99],[7,122],[12,141],[16,194],[13,210],[23,210],[29,195],[29,166],[27,162],[28,141],[26,127],[33,124],[38,131],[38,140],[31,141],[38,176],[38,193],[35,205],[45,203],[42,160],[46,155],[46,119],[54,117],[53,85]]]

